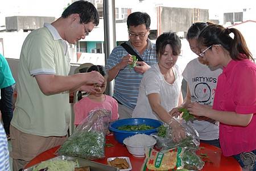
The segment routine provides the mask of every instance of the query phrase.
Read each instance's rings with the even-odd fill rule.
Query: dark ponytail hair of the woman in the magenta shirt
[[[234,34],[234,37],[230,36]],[[247,48],[245,39],[236,28],[225,28],[222,25],[211,24],[200,32],[197,39],[200,46],[221,45],[228,50],[230,57],[234,60],[253,59],[253,55]]]

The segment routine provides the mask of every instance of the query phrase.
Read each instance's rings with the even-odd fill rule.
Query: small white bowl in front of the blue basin
[[[126,139],[123,140],[123,144],[125,144],[129,153],[131,153],[135,157],[144,157],[145,156],[145,149],[150,148],[150,147],[154,147],[154,145],[156,144],[156,140],[154,138],[152,138],[152,143],[151,144],[147,144],[147,145],[144,145],[144,146],[131,146],[127,141],[128,138],[129,137],[127,137]]]

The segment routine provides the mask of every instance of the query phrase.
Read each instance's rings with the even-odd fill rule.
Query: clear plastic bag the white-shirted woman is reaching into
[[[160,127],[160,129],[160,132],[158,131],[158,133],[152,134],[152,136],[154,136],[156,139],[156,148],[158,149],[165,150],[175,147],[184,147],[189,149],[199,148],[199,134],[195,127],[188,125],[187,122],[183,121],[180,123],[180,121],[177,121],[174,118],[170,121],[170,123],[165,123],[162,127]],[[181,138],[180,134],[183,134],[184,137]],[[175,136],[179,136],[180,139],[175,139]]]

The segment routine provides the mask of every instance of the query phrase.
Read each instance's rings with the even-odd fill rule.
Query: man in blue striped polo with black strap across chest
[[[115,79],[113,97],[118,101],[119,118],[131,118],[137,104],[139,84],[150,66],[157,62],[155,44],[149,39],[150,16],[143,12],[134,12],[127,18],[129,41],[126,42],[143,59],[134,68],[131,55],[122,47],[117,46],[109,55],[106,63],[109,79]]]

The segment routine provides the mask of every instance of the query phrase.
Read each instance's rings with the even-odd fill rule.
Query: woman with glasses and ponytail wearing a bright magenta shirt
[[[220,121],[220,146],[224,156],[256,170],[256,65],[245,39],[235,28],[208,25],[199,35],[200,56],[210,66],[223,66],[218,76],[213,107],[192,103],[195,116]]]

